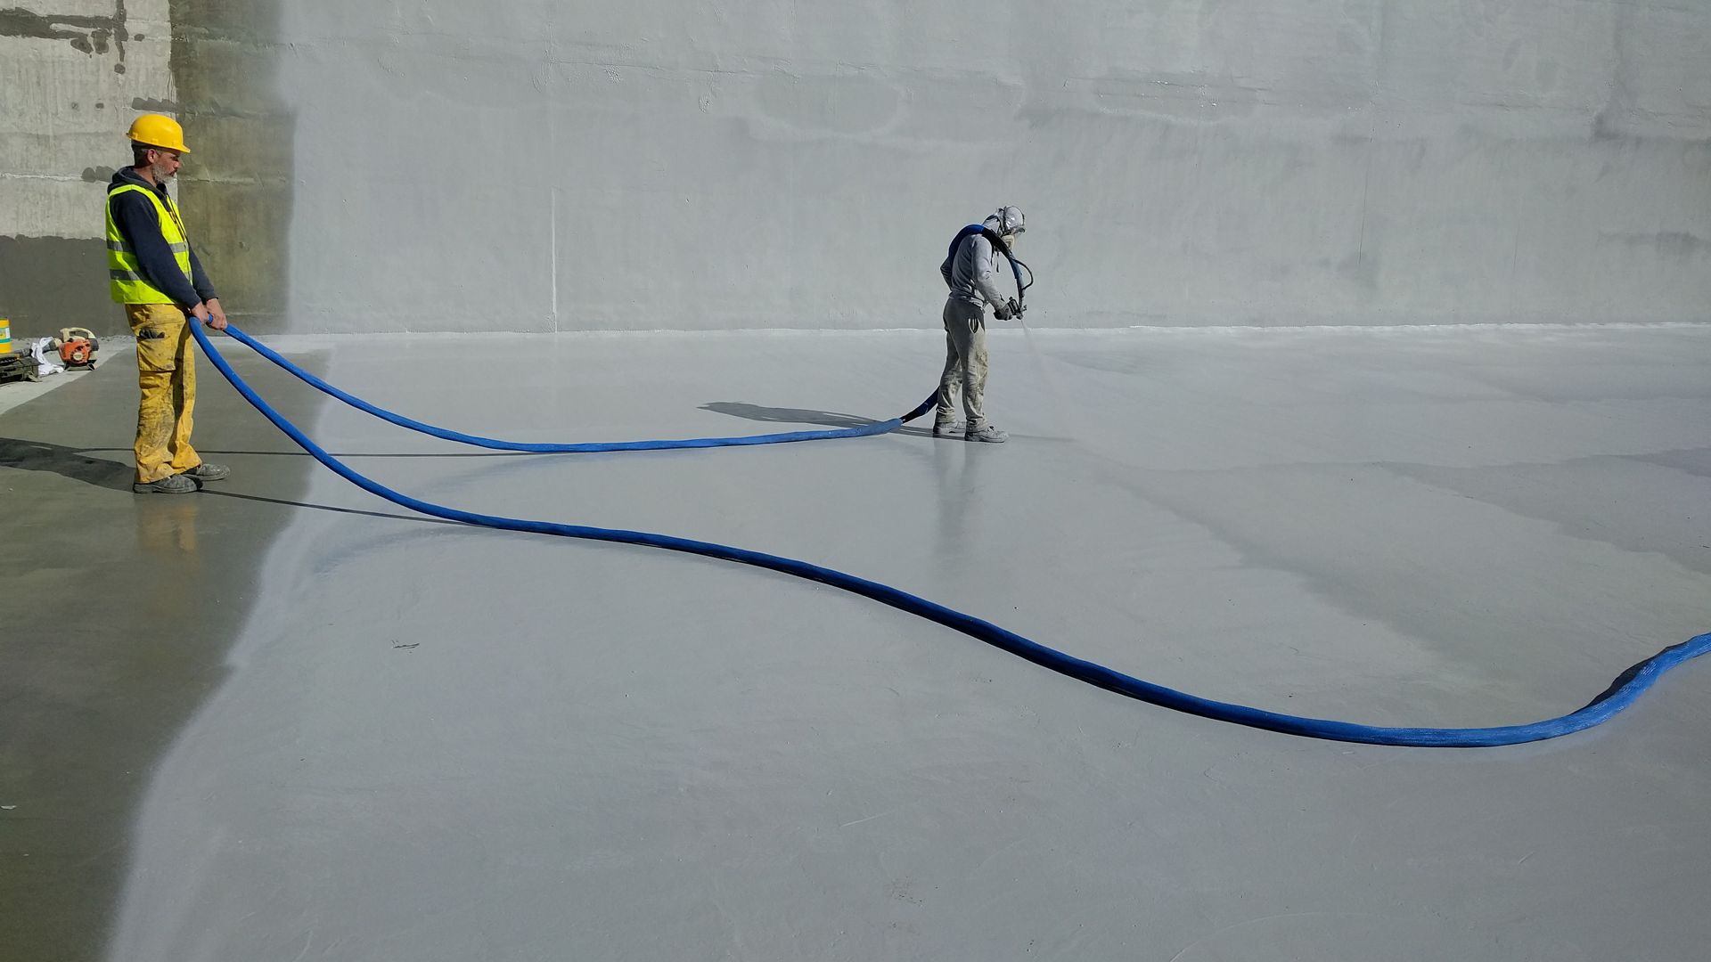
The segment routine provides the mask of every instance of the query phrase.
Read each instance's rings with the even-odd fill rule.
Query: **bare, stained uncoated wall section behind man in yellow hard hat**
[[[291,118],[270,67],[275,0],[38,0],[0,10],[0,317],[26,336],[125,324],[106,291],[101,199],[139,113],[178,116],[176,181],[233,317],[284,312]]]

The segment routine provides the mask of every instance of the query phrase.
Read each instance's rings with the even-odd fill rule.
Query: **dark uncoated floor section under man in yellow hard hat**
[[[299,361],[322,368],[313,354]],[[296,416],[313,416],[315,399],[291,397],[253,363],[243,370]],[[51,380],[62,382],[51,394],[0,413],[7,962],[101,957],[149,772],[226,676],[222,657],[267,591],[258,565],[306,474],[205,370],[195,442],[231,464],[241,488],[133,495],[132,358],[118,351],[94,371]],[[0,402],[17,389],[0,385]]]

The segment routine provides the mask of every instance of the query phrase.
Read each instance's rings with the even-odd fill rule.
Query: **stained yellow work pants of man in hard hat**
[[[202,464],[190,447],[190,413],[197,406],[197,354],[183,310],[176,305],[125,305],[137,336],[137,483],[183,474]]]

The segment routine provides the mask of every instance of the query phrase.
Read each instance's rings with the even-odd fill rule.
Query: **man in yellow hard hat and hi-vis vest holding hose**
[[[197,402],[195,347],[188,318],[219,330],[226,312],[190,248],[166,181],[178,173],[185,128],[159,113],[130,125],[132,166],[108,185],[108,277],[113,300],[137,336],[137,479],[139,495],[181,495],[231,474],[207,464],[190,447],[190,413]]]

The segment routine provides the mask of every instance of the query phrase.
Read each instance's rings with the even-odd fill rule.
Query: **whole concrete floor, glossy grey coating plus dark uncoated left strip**
[[[1711,630],[1704,325],[1003,330],[1006,445],[556,457],[407,435],[221,344],[411,495],[825,563],[1230,702],[1526,722]],[[520,440],[886,418],[941,358],[922,332],[277,344]],[[1530,746],[1251,731],[826,585],[407,517],[207,365],[197,442],[233,478],[137,498],[121,373],[0,416],[0,570],[38,611],[0,645],[17,959],[1711,943],[1711,664]]]

